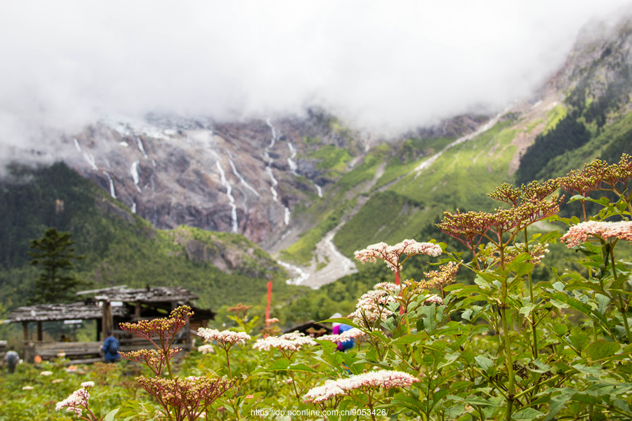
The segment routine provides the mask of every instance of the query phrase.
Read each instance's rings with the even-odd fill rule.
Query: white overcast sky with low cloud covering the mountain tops
[[[405,130],[502,109],[625,1],[4,1],[0,142],[147,112],[237,119],[322,105]]]

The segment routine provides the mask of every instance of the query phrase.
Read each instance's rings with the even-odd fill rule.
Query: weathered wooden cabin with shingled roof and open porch
[[[209,309],[200,309],[192,304],[198,297],[179,286],[159,286],[146,288],[127,288],[115,286],[86,290],[77,293],[80,302],[72,304],[44,304],[19,307],[9,314],[11,323],[22,323],[24,333],[24,359],[33,361],[35,356],[41,359],[55,359],[65,354],[68,363],[91,363],[101,361],[100,347],[109,330],[114,331],[121,344],[122,352],[136,349],[151,349],[153,345],[118,328],[119,323],[157,319],[169,316],[171,310],[180,305],[192,307],[195,313],[187,326],[180,330],[174,346],[191,348],[192,333],[206,327],[215,313]],[[44,342],[43,323],[50,321],[96,320],[96,342]],[[37,340],[29,338],[29,323],[36,323]]]

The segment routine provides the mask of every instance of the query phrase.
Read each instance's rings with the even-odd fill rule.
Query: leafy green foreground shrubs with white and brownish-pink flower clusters
[[[124,354],[152,373],[137,377],[152,401],[121,399],[104,415],[88,407],[84,386],[57,407],[89,420],[630,420],[632,263],[622,246],[632,239],[631,181],[632,157],[624,155],[555,180],[501,185],[489,194],[501,203],[494,212],[457,210],[438,225],[469,250],[465,260],[435,241],[356,252],[361,262],[386,262],[394,282],[377,283],[347,318],[330,319],[351,326],[340,335],[263,338],[240,305],[237,328],[199,329],[208,343],[177,367],[171,345],[190,309],[121,326],[156,345]],[[558,215],[560,189],[580,215]],[[598,212],[588,215],[586,203]],[[543,220],[567,228],[544,233]],[[576,250],[568,265],[575,269],[553,269],[551,281],[534,283],[532,272],[558,240]],[[400,279],[412,255],[437,269]],[[466,271],[473,284],[459,282]],[[355,347],[338,352],[336,343],[347,340]],[[60,380],[48,371],[14,389],[27,396]],[[294,412],[283,418],[274,410]]]

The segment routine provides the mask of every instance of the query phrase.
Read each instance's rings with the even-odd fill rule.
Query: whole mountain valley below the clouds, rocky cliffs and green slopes
[[[57,227],[73,233],[86,256],[77,276],[95,288],[185,286],[222,320],[237,302],[263,314],[272,280],[282,323],[326,319],[390,279],[386,267],[356,265],[354,250],[407,238],[458,250],[435,227],[444,211],[491,210],[486,194],[503,182],[631,152],[631,95],[632,20],[623,20],[586,26],[532,98],[391,138],[318,108],[232,122],[109,116],[60,135],[52,166],[8,166],[1,303],[25,304],[37,277],[29,240]],[[552,245],[548,259],[562,260],[563,249]]]

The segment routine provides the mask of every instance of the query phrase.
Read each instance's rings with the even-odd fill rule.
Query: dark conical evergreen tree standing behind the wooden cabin
[[[74,255],[74,241],[70,240],[70,236],[70,232],[49,228],[44,238],[31,241],[31,248],[35,250],[29,252],[33,257],[31,265],[42,270],[35,281],[35,288],[31,290],[30,304],[70,302],[77,286],[86,284],[69,274],[74,269],[72,260],[84,258]]]

